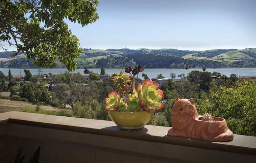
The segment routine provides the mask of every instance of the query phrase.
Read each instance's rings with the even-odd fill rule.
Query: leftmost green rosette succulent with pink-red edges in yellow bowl
[[[105,109],[108,111],[115,111],[115,110],[119,109],[120,98],[121,98],[120,94],[117,94],[116,91],[109,93],[108,98],[105,98],[105,102],[107,105],[105,107]]]

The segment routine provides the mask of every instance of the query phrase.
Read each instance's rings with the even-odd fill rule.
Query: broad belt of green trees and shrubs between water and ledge
[[[85,71],[91,73],[88,69]],[[102,73],[104,73],[103,69]],[[37,103],[38,109],[24,108],[23,111],[26,112],[110,120],[104,109],[106,106],[104,98],[115,90],[110,78],[96,82],[93,80],[98,79],[93,77],[92,80],[86,80],[80,73],[48,74],[57,83],[55,90],[52,91],[45,87],[45,78],[39,77],[42,74],[43,72],[38,71],[37,77],[34,78],[26,71],[25,78],[29,82],[19,85],[12,78],[11,72],[7,76],[0,72],[0,91],[10,91],[11,100]],[[46,75],[43,74],[43,76]],[[147,78],[146,74],[142,75],[143,78]],[[170,72],[170,76],[174,78],[176,74]],[[204,71],[192,71],[188,76],[185,74],[177,74],[177,76],[181,78],[181,82],[174,82],[170,79],[159,85],[159,89],[164,92],[164,108],[154,114],[149,124],[171,126],[170,116],[176,97],[194,98],[199,114],[208,112],[225,118],[234,134],[256,136],[255,82],[241,80],[235,74],[227,77],[219,72],[207,72],[205,69]],[[213,79],[211,76],[220,78]],[[156,78],[163,78],[163,76],[159,74]],[[142,80],[136,79],[136,83],[138,82]],[[80,83],[87,83],[88,86],[80,85]],[[68,113],[44,111],[40,109],[42,104],[72,111]]]

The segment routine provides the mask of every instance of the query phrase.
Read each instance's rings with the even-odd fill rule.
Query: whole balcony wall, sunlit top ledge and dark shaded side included
[[[39,163],[254,162],[256,137],[234,135],[230,142],[167,136],[170,127],[146,125],[120,130],[112,121],[25,112],[0,114],[0,162],[23,163],[40,146]]]

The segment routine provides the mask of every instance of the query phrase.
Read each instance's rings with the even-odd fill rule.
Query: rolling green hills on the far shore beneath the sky
[[[1,68],[36,68],[33,60],[13,52],[0,52]],[[86,49],[76,58],[77,68],[121,68],[127,65],[143,65],[145,68],[190,68],[207,67],[256,67],[256,49],[212,49],[207,51],[184,51],[178,49]],[[57,68],[64,68],[56,60]]]

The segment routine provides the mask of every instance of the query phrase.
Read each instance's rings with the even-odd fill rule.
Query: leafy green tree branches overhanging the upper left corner
[[[54,67],[59,59],[69,71],[80,56],[79,39],[72,35],[68,19],[84,25],[95,22],[98,0],[4,0],[0,3],[0,42],[25,52],[38,67]],[[0,44],[0,48],[4,48]],[[15,53],[14,55],[16,55]]]

